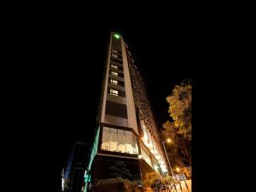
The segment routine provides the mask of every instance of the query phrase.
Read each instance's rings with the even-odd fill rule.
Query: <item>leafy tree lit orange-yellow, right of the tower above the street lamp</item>
[[[192,85],[190,81],[178,84],[172,90],[172,95],[166,97],[169,102],[169,113],[178,129],[178,133],[191,141],[191,98]]]

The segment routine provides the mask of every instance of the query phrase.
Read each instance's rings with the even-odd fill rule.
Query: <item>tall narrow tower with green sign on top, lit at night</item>
[[[124,38],[115,32],[108,44],[97,121],[86,179],[113,177],[109,167],[117,161],[142,182],[152,174],[166,175],[166,159],[143,81]]]

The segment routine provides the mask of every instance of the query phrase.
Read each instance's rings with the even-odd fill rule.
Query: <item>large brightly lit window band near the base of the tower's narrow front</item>
[[[102,150],[138,154],[137,138],[131,131],[103,127]]]

